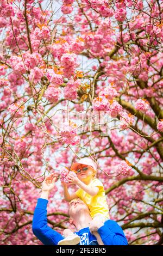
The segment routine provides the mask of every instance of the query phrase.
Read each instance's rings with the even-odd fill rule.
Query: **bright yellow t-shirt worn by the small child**
[[[95,217],[95,215],[101,214],[105,217],[110,218],[109,207],[106,202],[106,196],[102,182],[95,178],[87,186],[99,188],[96,196],[90,196],[90,194],[86,193],[84,190],[82,190],[82,188],[79,188],[76,194],[89,207],[91,217],[93,218]]]

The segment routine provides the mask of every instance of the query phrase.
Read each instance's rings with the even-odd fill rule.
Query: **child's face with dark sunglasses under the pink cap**
[[[95,170],[91,166],[80,164],[77,168],[77,176],[79,180],[91,181],[93,176],[95,176]]]

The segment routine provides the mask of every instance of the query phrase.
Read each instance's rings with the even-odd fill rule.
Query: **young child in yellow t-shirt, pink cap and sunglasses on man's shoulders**
[[[79,186],[79,190],[70,194],[66,184],[64,185],[64,197],[66,201],[71,201],[75,198],[80,198],[89,207],[90,215],[92,217],[91,226],[97,223],[99,218],[103,223],[108,220],[109,208],[106,202],[104,187],[101,181],[96,178],[97,166],[96,163],[89,157],[80,159],[79,162],[73,163],[71,170],[77,172],[77,177],[68,175],[68,181],[71,184]],[[98,244],[103,245],[101,237],[94,231]],[[65,239],[61,240],[58,245],[76,245],[80,242],[80,237],[73,234],[70,229],[64,230]]]

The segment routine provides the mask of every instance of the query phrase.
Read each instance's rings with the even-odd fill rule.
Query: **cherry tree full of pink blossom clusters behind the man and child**
[[[0,1],[1,245],[40,244],[41,182],[86,156],[129,244],[162,244],[162,10],[159,0]],[[51,196],[48,223],[62,233],[60,181]]]

